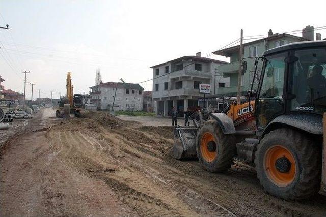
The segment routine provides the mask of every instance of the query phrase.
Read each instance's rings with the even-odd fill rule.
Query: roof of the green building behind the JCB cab
[[[285,36],[295,38],[295,39],[298,39],[298,40],[301,40],[301,41],[307,41],[307,39],[299,37],[299,36],[293,36],[293,35],[290,35],[290,34],[282,33],[282,34],[274,34],[273,36],[269,36],[269,37],[266,37],[266,38],[258,39],[258,40],[251,41],[251,42],[247,42],[247,43],[244,43],[243,46],[256,44],[256,43],[264,41],[264,40],[267,40],[267,41],[275,40],[275,39],[283,38]],[[225,49],[222,49],[222,50],[216,50],[216,51],[214,51],[212,53],[216,54],[216,55],[225,56],[225,55],[227,55],[226,53],[233,53],[233,52],[236,52],[239,49],[240,49],[240,45],[236,45],[236,46],[225,48]]]

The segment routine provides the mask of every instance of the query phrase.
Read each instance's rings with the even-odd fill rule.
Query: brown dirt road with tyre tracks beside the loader
[[[246,165],[212,174],[197,161],[172,159],[171,127],[140,127],[99,112],[65,121],[50,113],[7,143],[1,216],[326,214],[326,197],[280,200]]]

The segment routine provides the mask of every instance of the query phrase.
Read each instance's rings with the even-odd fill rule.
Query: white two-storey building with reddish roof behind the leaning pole
[[[111,110],[113,101],[114,110],[143,110],[144,88],[139,84],[107,82],[89,88],[90,101],[99,110]]]

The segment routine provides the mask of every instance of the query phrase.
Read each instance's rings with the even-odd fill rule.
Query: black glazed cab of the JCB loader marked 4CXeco
[[[258,61],[263,64],[255,100],[257,135],[262,136],[277,125],[322,134],[326,41],[280,46],[266,51]],[[312,127],[314,124],[320,128]]]

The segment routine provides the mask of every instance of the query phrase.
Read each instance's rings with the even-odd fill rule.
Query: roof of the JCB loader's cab
[[[320,46],[326,46],[326,41],[318,40],[318,41],[293,42],[290,44],[272,48],[270,50],[266,50],[263,55],[268,55],[270,53],[281,52],[290,49],[300,49],[300,48],[320,47]]]

